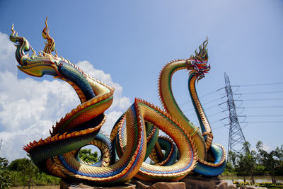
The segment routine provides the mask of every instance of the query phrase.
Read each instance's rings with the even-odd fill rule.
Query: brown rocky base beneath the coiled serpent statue
[[[226,181],[219,178],[206,178],[203,176],[186,176],[178,182],[146,182],[140,181],[137,178],[132,178],[131,181],[124,185],[115,186],[101,186],[90,185],[90,183],[76,183],[70,180],[61,179],[60,189],[98,189],[98,188],[111,188],[111,189],[227,189]]]

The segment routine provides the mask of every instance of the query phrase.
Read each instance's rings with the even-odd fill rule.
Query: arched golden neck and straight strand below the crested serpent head
[[[178,120],[178,122],[180,122],[180,124],[183,125],[193,137],[195,134],[200,134],[200,130],[198,130],[198,128],[195,127],[195,125],[193,125],[192,122],[187,119],[182,110],[180,110],[180,107],[178,106],[178,103],[175,101],[175,98],[173,96],[171,86],[173,74],[175,73],[175,71],[181,69],[187,69],[185,60],[170,62],[166,64],[165,67],[163,67],[159,76],[159,97],[166,112],[173,115],[173,117]],[[200,99],[197,96],[197,91],[195,89],[196,80],[197,76],[192,76],[191,74],[189,77],[189,91],[192,103],[195,107],[195,112],[197,113],[197,118],[200,121],[202,136],[205,142],[204,145],[205,149],[207,150],[212,144],[213,135],[207,117],[200,103]]]

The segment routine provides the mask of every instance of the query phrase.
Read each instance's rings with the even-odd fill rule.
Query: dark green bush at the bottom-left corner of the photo
[[[7,170],[8,160],[0,157],[0,188],[8,188],[12,185],[11,175]]]

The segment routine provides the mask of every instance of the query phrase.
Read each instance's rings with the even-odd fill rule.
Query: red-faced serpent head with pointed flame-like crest
[[[190,74],[197,76],[197,80],[204,78],[204,74],[210,69],[210,64],[207,64],[207,43],[208,39],[200,45],[200,51],[195,50],[195,55],[192,55],[186,61],[187,69],[190,70]]]

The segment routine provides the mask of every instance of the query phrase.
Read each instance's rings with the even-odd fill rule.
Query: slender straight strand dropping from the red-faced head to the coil
[[[195,113],[197,113],[197,118],[200,122],[200,128],[202,130],[202,136],[204,136],[205,144],[207,149],[212,145],[212,129],[209,125],[209,121],[207,119],[207,115],[204,113],[204,109],[202,108],[202,104],[200,103],[200,98],[197,96],[197,91],[195,89],[195,82],[197,81],[197,76],[195,74],[190,74],[188,81],[188,88],[190,91],[190,98],[192,99],[192,104],[195,108]]]

